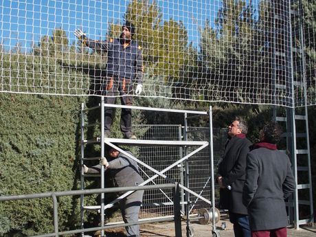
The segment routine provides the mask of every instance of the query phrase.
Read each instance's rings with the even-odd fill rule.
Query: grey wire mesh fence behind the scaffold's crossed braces
[[[147,130],[142,139],[168,141],[179,141],[184,139],[184,128],[181,125],[144,125],[142,128],[146,128]],[[209,141],[210,129],[188,127],[187,137],[188,141]],[[223,154],[226,139],[226,128],[213,128],[215,169]],[[140,146],[139,159],[156,170],[163,170],[194,149],[195,147]],[[186,185],[190,190],[200,194],[205,199],[211,200],[210,167],[210,149],[207,147],[188,159],[188,172],[185,172],[185,164],[181,163],[168,170],[166,175],[168,178]],[[139,166],[139,168],[144,179],[148,179],[155,175],[152,171],[142,166]],[[186,177],[186,175],[188,175],[188,177]],[[157,179],[153,180],[150,184],[155,185],[163,183],[168,183],[168,181],[162,177],[157,177]],[[192,203],[190,213],[195,213],[195,211],[200,208],[210,208],[210,205],[192,195],[190,195],[190,202]],[[218,185],[216,185],[216,205],[217,203]],[[181,190],[181,204],[181,212],[182,214],[185,214],[185,192],[183,192],[183,190]],[[172,215],[172,212],[173,204],[172,193],[170,190],[146,190],[144,193],[143,207],[139,215],[140,218],[168,216]]]

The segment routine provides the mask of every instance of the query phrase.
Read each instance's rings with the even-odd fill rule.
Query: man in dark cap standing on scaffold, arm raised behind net
[[[135,26],[126,21],[122,26],[120,38],[110,38],[109,41],[94,41],[87,38],[82,30],[74,32],[82,43],[91,49],[107,52],[106,76],[102,82],[100,93],[106,95],[106,104],[114,104],[117,95],[123,105],[133,104],[133,86],[137,83],[135,94],[142,93],[143,59],[142,50],[137,41],[132,39]],[[111,135],[114,108],[106,107],[104,112],[104,134]],[[132,133],[132,111],[122,108],[120,127],[124,137],[136,139]]]

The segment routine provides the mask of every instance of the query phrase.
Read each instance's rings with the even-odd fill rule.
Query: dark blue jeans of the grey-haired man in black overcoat
[[[229,221],[234,224],[235,237],[251,237],[247,215],[229,212]]]

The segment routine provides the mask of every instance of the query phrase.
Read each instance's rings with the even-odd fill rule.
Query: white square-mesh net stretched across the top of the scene
[[[120,37],[128,20],[135,25],[142,70],[131,60],[135,52],[124,52],[111,63],[131,84],[142,82],[137,96],[316,104],[316,3],[302,1],[302,14],[291,18],[290,9],[300,5],[289,2],[3,0],[0,91],[102,94],[115,47],[88,47],[74,31],[109,43]],[[138,76],[129,75],[133,70]],[[128,93],[135,95],[135,88]]]

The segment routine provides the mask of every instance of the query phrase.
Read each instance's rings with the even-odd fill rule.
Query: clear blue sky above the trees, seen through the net
[[[148,0],[152,1],[152,0]],[[126,0],[2,0],[0,6],[0,42],[10,49],[19,41],[24,50],[30,49],[42,36],[52,35],[61,27],[71,41],[77,27],[91,38],[104,38],[108,23],[123,22],[124,12],[130,1]],[[198,28],[205,20],[214,23],[220,0],[157,0],[163,20],[183,21],[189,41],[199,44]]]

